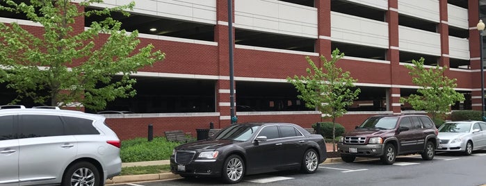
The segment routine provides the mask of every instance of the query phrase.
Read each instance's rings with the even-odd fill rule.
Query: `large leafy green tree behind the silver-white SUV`
[[[165,53],[154,51],[152,44],[138,46],[138,31],[127,33],[110,17],[113,11],[128,16],[124,10],[132,10],[134,2],[82,11],[100,2],[0,0],[0,11],[25,15],[42,25],[27,30],[16,22],[0,22],[0,83],[17,92],[12,103],[23,99],[57,106],[78,102],[102,110],[107,101],[136,94],[136,80],[130,74],[163,60]],[[84,31],[73,29],[76,21],[91,15],[107,18],[92,22]],[[108,39],[100,39],[100,34],[108,35]],[[115,75],[122,76],[121,80],[113,81]]]

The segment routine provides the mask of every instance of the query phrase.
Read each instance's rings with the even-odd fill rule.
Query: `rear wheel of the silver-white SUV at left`
[[[67,168],[63,175],[63,186],[74,185],[88,185],[99,186],[102,185],[101,176],[95,165],[90,162],[76,162]]]

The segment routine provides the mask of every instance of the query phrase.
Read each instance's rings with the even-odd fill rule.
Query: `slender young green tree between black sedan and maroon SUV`
[[[287,81],[292,83],[300,92],[299,99],[305,101],[307,108],[316,108],[321,111],[325,117],[332,119],[332,151],[336,151],[336,118],[343,116],[346,107],[353,104],[361,92],[355,87],[357,80],[350,77],[350,72],[343,72],[343,69],[336,66],[339,59],[343,58],[344,53],[339,49],[332,51],[331,60],[321,56],[323,67],[317,67],[316,64],[307,56],[306,60],[311,65],[307,68],[307,76],[288,77]]]

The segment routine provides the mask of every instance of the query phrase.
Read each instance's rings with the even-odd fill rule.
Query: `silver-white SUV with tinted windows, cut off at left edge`
[[[120,174],[120,140],[105,117],[0,106],[0,185],[104,185]]]

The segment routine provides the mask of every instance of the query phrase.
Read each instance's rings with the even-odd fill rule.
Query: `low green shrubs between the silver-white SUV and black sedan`
[[[146,137],[123,140],[120,158],[122,162],[169,160],[172,149],[178,145],[177,142],[168,142],[165,137],[154,137],[152,142],[149,142]]]

